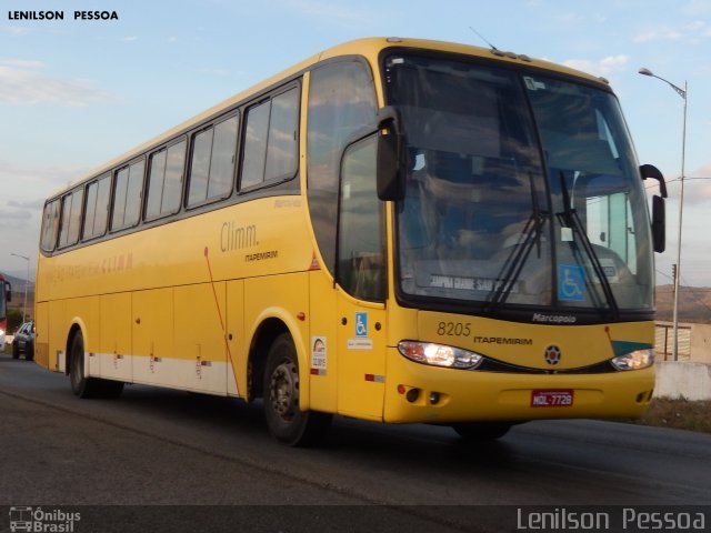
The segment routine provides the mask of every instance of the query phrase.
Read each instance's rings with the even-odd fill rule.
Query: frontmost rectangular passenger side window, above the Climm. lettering
[[[298,124],[297,88],[247,111],[240,189],[297,173]]]

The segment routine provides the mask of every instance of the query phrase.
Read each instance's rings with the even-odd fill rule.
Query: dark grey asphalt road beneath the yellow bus
[[[337,418],[323,446],[289,449],[258,403],[138,385],[79,400],[0,355],[0,505],[81,506],[77,532],[517,531],[521,506],[709,504],[711,435],[551,421],[472,446]]]

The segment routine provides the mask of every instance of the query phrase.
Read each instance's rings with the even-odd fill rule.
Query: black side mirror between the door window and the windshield
[[[402,135],[400,115],[393,107],[378,111],[378,198],[397,201],[404,198],[404,177],[401,171]]]

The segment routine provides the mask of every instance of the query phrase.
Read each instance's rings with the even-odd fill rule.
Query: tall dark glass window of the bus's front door
[[[383,203],[375,190],[377,137],[351,145],[341,167],[338,282],[351,295],[385,298]]]

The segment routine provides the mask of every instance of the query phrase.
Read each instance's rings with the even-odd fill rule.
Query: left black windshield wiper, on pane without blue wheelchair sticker
[[[541,230],[550,213],[540,209],[532,172],[529,172],[529,182],[531,184],[531,217],[529,217],[518,242],[503,262],[497,280],[494,280],[494,286],[489,293],[491,299],[489,299],[487,312],[507,301],[534,244],[538,257],[541,257]]]

